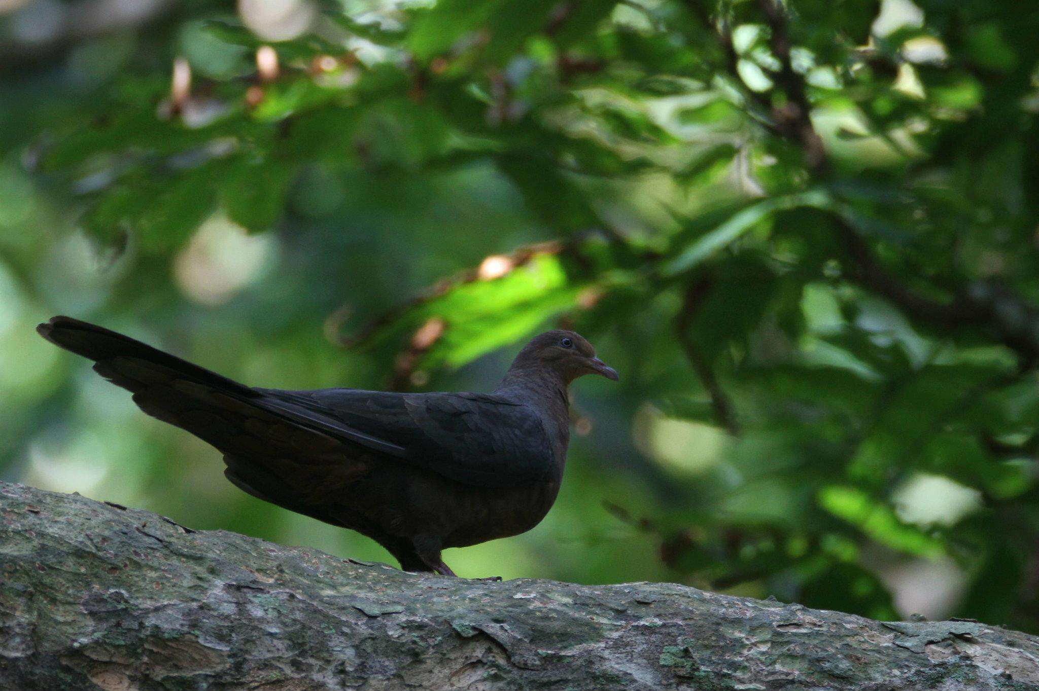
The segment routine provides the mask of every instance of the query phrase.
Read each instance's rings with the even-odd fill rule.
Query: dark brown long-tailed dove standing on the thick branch
[[[250,387],[70,316],[36,328],[94,360],[146,414],[223,454],[264,501],[374,540],[408,572],[454,576],[442,551],[530,530],[559,492],[570,383],[617,381],[580,334],[535,336],[489,393]]]

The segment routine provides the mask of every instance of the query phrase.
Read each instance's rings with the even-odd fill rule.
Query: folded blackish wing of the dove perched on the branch
[[[537,412],[491,394],[258,389],[287,414],[321,421],[374,450],[478,487],[558,480]]]

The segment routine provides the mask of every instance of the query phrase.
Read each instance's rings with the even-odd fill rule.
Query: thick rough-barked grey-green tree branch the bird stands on
[[[405,574],[0,483],[0,689],[1039,689],[1039,639]]]

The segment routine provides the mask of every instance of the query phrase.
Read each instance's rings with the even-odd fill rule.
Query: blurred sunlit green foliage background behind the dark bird
[[[460,573],[1039,632],[1036,12],[194,0],[70,29],[85,4],[0,19],[5,476],[377,558],[31,327],[479,389],[564,324],[621,382],[575,386],[557,506]]]

